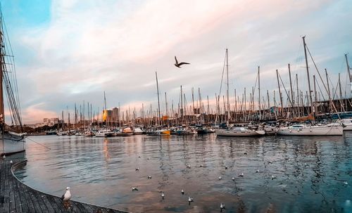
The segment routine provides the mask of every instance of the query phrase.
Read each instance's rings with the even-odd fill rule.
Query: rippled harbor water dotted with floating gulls
[[[31,136],[15,175],[45,193],[70,186],[73,200],[129,212],[220,212],[220,203],[222,212],[352,212],[351,145],[352,132]]]

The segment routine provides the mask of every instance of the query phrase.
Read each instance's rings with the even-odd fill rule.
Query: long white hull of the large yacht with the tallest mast
[[[344,127],[341,126],[303,127],[297,129],[282,127],[277,129],[277,134],[283,136],[341,136],[343,131]]]

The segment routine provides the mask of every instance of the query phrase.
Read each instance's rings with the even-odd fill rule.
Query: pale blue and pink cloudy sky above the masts
[[[248,99],[252,86],[258,91],[258,66],[261,96],[268,90],[272,99],[277,91],[275,70],[289,88],[288,63],[304,90],[302,36],[320,72],[327,68],[332,87],[341,73],[351,96],[344,58],[351,52],[352,64],[350,0],[2,0],[1,6],[25,124],[59,117],[62,110],[73,113],[83,101],[100,111],[104,91],[107,108],[120,104],[139,111],[143,103],[155,110],[155,72],[162,111],[165,92],[169,106],[173,101],[177,108],[180,85],[187,104],[193,87],[213,105],[225,49],[232,101],[234,89],[241,97],[246,87]],[[191,65],[175,67],[174,56]],[[309,63],[310,74],[318,76]],[[225,88],[222,83],[221,96]]]

